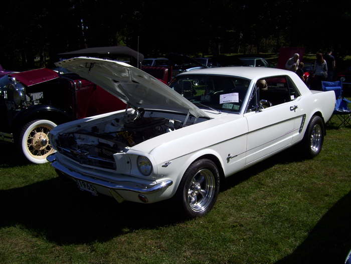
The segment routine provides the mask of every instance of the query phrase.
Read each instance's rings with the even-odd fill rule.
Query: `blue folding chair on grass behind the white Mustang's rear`
[[[322,82],[322,90],[323,91],[331,91],[333,90],[335,93],[335,108],[333,115],[337,116],[341,121],[338,128],[342,126],[351,125],[351,110],[347,107],[348,103],[351,101],[342,97],[342,83],[341,81],[336,82]]]

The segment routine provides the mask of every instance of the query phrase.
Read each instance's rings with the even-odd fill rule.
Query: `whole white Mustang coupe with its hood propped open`
[[[57,63],[127,103],[122,111],[57,126],[48,157],[94,195],[153,203],[169,198],[190,217],[213,207],[225,177],[299,143],[316,156],[334,92],[310,91],[293,72],[194,70],[170,87],[130,65],[95,58]]]

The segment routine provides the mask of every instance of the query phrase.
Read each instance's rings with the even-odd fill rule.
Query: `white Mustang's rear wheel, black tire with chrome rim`
[[[313,116],[308,123],[301,142],[306,158],[313,158],[319,154],[324,141],[324,123],[321,117]]]

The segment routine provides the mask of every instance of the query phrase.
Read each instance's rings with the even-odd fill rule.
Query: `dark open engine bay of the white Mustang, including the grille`
[[[113,154],[180,129],[185,123],[144,114],[143,109],[138,109],[121,118],[82,127],[75,132],[60,133],[56,141],[58,151],[80,163],[110,168],[113,165],[109,164],[113,162]]]

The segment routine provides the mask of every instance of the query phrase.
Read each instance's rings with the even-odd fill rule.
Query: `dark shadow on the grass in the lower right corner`
[[[344,263],[346,254],[351,249],[350,204],[351,192],[323,215],[292,254],[276,264]]]

